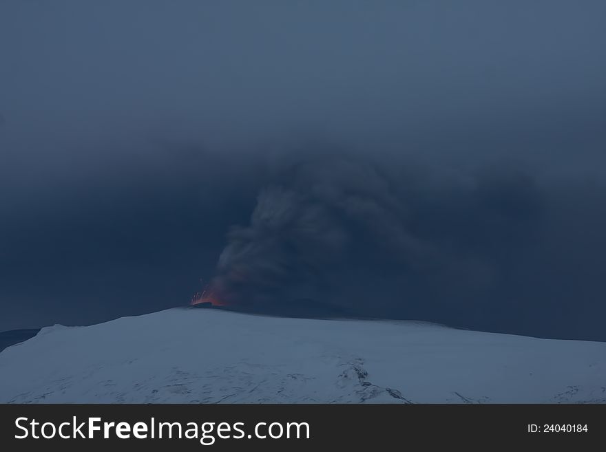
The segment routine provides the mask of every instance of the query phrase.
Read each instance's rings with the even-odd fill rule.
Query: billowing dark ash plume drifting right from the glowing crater
[[[281,314],[322,306],[444,320],[472,309],[525,259],[545,221],[543,193],[512,169],[425,176],[401,159],[381,166],[353,155],[287,165],[258,194],[249,224],[227,235],[213,291]]]

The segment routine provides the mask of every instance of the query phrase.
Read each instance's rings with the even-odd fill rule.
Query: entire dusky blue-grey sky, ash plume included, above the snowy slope
[[[258,312],[606,340],[604,23],[597,0],[3,1],[0,330],[202,278]]]

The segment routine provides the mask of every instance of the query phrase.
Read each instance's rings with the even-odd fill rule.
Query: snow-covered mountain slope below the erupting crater
[[[173,309],[43,328],[0,402],[606,402],[606,343]]]

